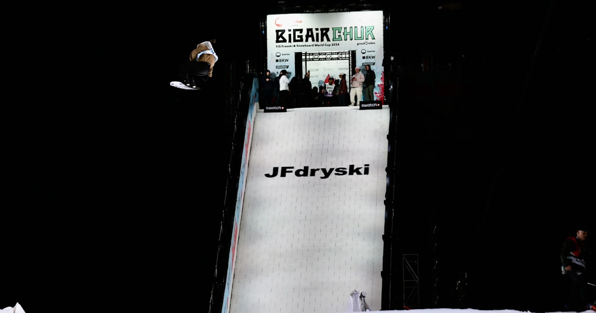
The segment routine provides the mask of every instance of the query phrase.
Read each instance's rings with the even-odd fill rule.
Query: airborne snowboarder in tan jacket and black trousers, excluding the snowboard
[[[195,76],[205,81],[213,75],[213,66],[218,61],[218,55],[213,49],[215,39],[204,41],[190,52],[187,61],[180,66],[180,79],[184,85],[196,88]]]

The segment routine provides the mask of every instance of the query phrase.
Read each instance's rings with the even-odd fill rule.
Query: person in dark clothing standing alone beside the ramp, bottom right
[[[578,227],[575,237],[567,237],[561,248],[560,258],[563,272],[570,278],[570,294],[567,311],[581,312],[592,309],[588,299],[588,227]]]

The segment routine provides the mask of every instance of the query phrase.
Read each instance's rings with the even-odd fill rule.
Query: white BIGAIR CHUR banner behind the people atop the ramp
[[[311,72],[318,86],[328,76],[350,78],[358,66],[375,72],[375,100],[383,100],[383,11],[272,14],[267,16],[268,69],[288,78]]]

